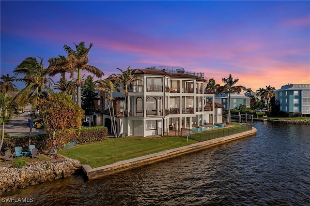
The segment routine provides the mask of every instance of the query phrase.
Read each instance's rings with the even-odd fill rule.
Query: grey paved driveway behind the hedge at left
[[[28,112],[31,110],[31,105],[27,105],[24,109],[24,113],[12,118],[4,125],[4,131],[9,133],[10,136],[28,136],[30,128],[28,123]],[[32,128],[31,135],[43,134],[43,129]]]

